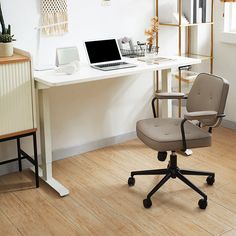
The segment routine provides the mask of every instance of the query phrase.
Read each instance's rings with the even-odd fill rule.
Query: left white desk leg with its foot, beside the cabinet
[[[39,175],[60,196],[66,196],[69,194],[69,190],[52,177],[52,137],[48,89],[39,90],[39,119],[42,156],[42,166],[39,170]]]

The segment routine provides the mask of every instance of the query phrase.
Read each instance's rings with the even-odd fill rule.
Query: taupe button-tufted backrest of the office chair
[[[195,79],[187,99],[187,111],[216,111],[224,114],[226,99],[229,91],[227,80],[215,75],[201,73]],[[204,120],[206,126],[219,126],[222,117]]]

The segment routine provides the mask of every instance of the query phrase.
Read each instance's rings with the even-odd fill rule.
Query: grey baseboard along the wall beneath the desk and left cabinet
[[[86,143],[86,144],[79,145],[76,147],[54,150],[52,153],[53,161],[62,160],[67,157],[76,156],[76,155],[86,153],[89,151],[94,151],[99,148],[108,147],[108,146],[111,146],[114,144],[126,142],[126,141],[134,139],[134,138],[137,138],[136,132],[131,132],[131,133],[126,133],[126,134],[113,136],[110,138],[105,138],[105,139],[101,139],[98,141]],[[39,157],[39,160],[40,160],[40,157]],[[29,168],[30,166],[32,166],[26,160],[22,161],[22,165],[23,165],[23,169],[26,169],[26,168]],[[8,164],[0,166],[0,176],[8,174],[8,173],[16,172],[16,171],[18,171],[18,163],[17,162],[12,162],[12,163],[8,163]]]

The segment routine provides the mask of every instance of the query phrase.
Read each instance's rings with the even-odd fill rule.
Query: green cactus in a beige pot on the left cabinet
[[[0,3],[0,23],[2,32],[0,33],[0,57],[10,57],[13,55],[13,41],[14,35],[11,34],[11,26],[5,27],[5,22],[2,14],[2,8]]]

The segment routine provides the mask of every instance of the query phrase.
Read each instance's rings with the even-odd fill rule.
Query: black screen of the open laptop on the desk
[[[115,39],[88,41],[85,47],[91,64],[121,60]]]

